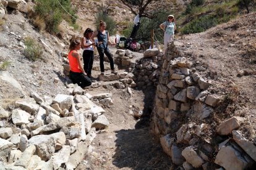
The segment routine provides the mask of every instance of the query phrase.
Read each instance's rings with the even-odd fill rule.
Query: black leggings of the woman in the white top
[[[93,59],[93,51],[83,51],[83,70],[85,70],[85,73],[87,73],[88,76],[92,76]]]

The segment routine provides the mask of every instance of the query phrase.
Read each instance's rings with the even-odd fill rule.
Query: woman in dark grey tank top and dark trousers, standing
[[[113,55],[109,52],[108,49],[108,44],[114,46],[116,43],[113,43],[109,40],[109,34],[108,31],[106,30],[106,23],[100,20],[100,29],[98,31],[95,31],[93,34],[92,38],[98,38],[98,46],[97,50],[100,55],[100,71],[101,75],[104,75],[104,54],[109,59],[110,62],[110,68],[111,68],[111,73],[117,74],[116,71],[114,71],[114,60],[113,60]],[[93,39],[94,41],[94,39]]]

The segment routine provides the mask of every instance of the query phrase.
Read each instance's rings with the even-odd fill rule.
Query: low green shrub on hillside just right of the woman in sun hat
[[[218,20],[213,15],[206,15],[188,23],[182,28],[182,34],[200,33],[218,24]]]

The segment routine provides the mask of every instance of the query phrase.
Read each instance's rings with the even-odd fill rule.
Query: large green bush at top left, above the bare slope
[[[59,4],[59,2],[62,6]],[[70,24],[74,24],[77,15],[75,15],[75,10],[72,9],[69,0],[36,0],[35,6],[35,15],[43,18],[46,24],[46,30],[49,33],[58,33],[59,29],[58,26],[61,21],[64,19]],[[66,10],[69,14],[67,14]]]

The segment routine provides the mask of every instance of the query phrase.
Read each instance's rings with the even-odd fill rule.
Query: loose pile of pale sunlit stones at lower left
[[[109,121],[93,103],[113,105],[112,94],[90,95],[69,84],[72,95],[54,99],[32,92],[11,112],[0,108],[0,169],[75,169]],[[13,124],[7,124],[11,119]]]

